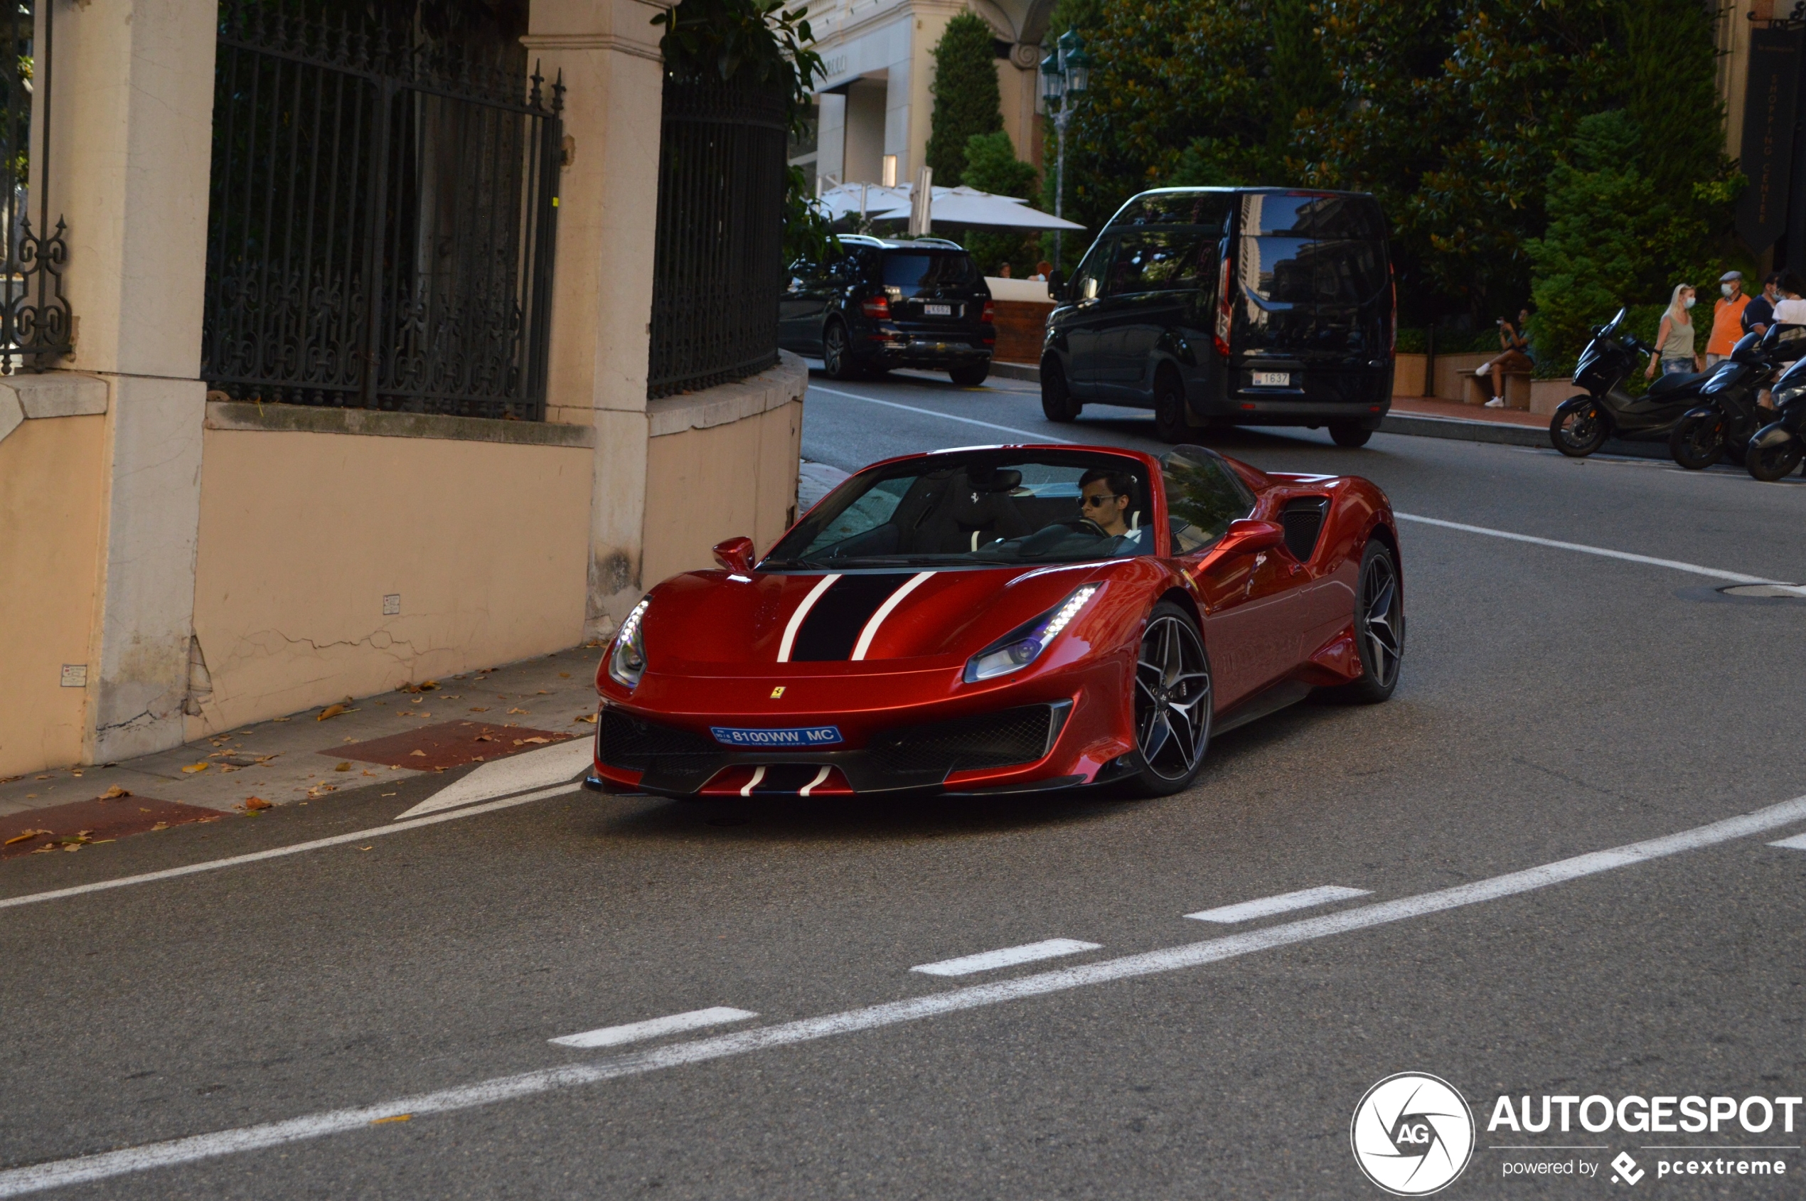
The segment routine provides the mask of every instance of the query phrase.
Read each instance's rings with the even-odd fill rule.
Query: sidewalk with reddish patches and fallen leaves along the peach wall
[[[417,681],[121,764],[0,780],[0,860],[446,771],[591,737],[600,647]],[[33,833],[29,838],[23,834]]]

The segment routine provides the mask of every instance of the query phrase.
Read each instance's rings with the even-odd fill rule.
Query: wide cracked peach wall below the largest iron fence
[[[204,437],[190,737],[582,639],[589,448]]]

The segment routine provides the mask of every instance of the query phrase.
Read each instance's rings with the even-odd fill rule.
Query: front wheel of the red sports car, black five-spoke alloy
[[[1190,786],[1210,746],[1210,659],[1192,616],[1161,601],[1141,630],[1134,665],[1136,787],[1167,796]]]

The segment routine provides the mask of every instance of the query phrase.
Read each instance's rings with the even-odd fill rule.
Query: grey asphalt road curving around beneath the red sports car
[[[1138,414],[1051,426],[1026,385],[892,377],[811,390],[804,455],[1024,435],[1154,446]],[[1806,580],[1799,484],[1391,435],[1212,442],[1358,471],[1414,517]],[[1423,522],[1403,571],[1391,703],[1224,735],[1165,800],[567,793],[4,907],[381,827],[446,782],[419,777],[7,861],[0,1196],[87,1165],[110,1174],[45,1196],[1378,1197],[1349,1122],[1400,1071],[1474,1105],[1441,1196],[1799,1196],[1806,1111],[1792,1132],[1486,1123],[1499,1094],[1806,1093],[1806,851],[1770,845],[1806,805],[1714,825],[1806,795],[1806,600]],[[1185,917],[1326,885],[1365,896]],[[1055,937],[1096,948],[910,972]],[[757,1017],[549,1042],[713,1006]],[[1638,1185],[1611,1183],[1618,1152]],[[1689,1156],[1786,1174],[1658,1176]],[[1537,1161],[1578,1170],[1506,1176]]]

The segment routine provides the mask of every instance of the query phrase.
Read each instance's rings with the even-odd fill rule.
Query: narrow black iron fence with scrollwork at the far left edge
[[[43,45],[33,36],[40,0],[13,0],[0,13],[0,220],[5,262],[0,262],[0,374],[49,368],[70,352],[74,320],[63,298],[63,219],[51,228],[49,130],[51,130],[51,20],[43,4]],[[31,110],[40,105],[38,163],[31,161]],[[38,195],[31,195],[36,166]],[[36,199],[38,224],[31,224]]]

